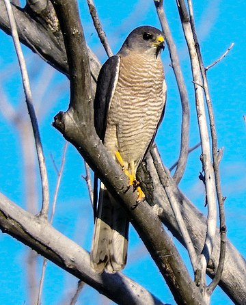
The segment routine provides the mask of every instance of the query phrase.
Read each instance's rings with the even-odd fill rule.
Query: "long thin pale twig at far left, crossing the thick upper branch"
[[[16,27],[16,21],[14,19],[14,13],[12,11],[12,6],[10,5],[9,0],[4,0],[4,2],[5,2],[6,10],[8,12],[8,17],[10,20],[12,38],[14,41],[14,47],[16,49],[16,55],[18,57],[18,62],[20,65],[20,72],[21,72],[22,79],[23,79],[23,88],[25,91],[27,109],[28,109],[28,113],[29,113],[29,116],[31,119],[33,136],[34,136],[34,140],[35,140],[35,144],[36,144],[36,151],[37,151],[37,155],[38,155],[38,163],[39,163],[40,177],[41,177],[41,183],[42,183],[42,209],[40,211],[40,216],[47,218],[48,211],[49,211],[49,183],[48,183],[48,176],[47,176],[46,165],[45,165],[45,160],[44,160],[44,152],[42,149],[40,132],[39,132],[39,128],[38,128],[38,120],[37,120],[36,113],[35,113],[35,110],[33,107],[27,67],[25,64],[25,58],[24,58],[22,49],[20,47],[20,41],[18,38],[18,31],[17,31],[17,27]]]

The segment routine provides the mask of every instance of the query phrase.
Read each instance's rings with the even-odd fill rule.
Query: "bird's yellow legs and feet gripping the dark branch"
[[[120,155],[120,151],[116,151],[115,152],[115,158],[118,161],[118,163],[120,164],[120,166],[122,167],[122,170],[124,172],[124,174],[126,174],[126,176],[128,176],[129,179],[129,186],[133,185],[133,189],[137,189],[137,202],[141,202],[145,199],[145,194],[143,193],[143,191],[141,190],[141,187],[139,187],[139,181],[137,181],[136,178],[136,174],[135,174],[135,164],[134,161],[131,161],[130,163],[130,168],[131,168],[131,173],[128,172],[128,170],[126,170],[126,167],[124,165],[124,161],[122,159],[122,156]]]

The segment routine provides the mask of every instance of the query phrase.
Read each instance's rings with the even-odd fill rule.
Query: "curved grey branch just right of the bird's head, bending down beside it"
[[[165,40],[167,42],[167,47],[169,49],[169,54],[172,61],[172,68],[174,69],[174,75],[176,77],[178,92],[180,94],[180,101],[182,105],[180,155],[178,157],[178,164],[174,173],[174,181],[176,181],[176,183],[178,184],[184,174],[189,153],[189,100],[187,88],[185,86],[184,77],[182,75],[182,70],[180,67],[178,52],[174,43],[174,39],[172,38],[172,34],[169,29],[167,18],[163,9],[163,0],[154,0],[154,4],[156,5],[156,12],[159,16],[161,27],[163,29]]]

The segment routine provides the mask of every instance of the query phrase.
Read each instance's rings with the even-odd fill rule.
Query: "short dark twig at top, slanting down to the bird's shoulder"
[[[102,45],[105,48],[108,57],[111,57],[113,55],[113,52],[111,51],[109,42],[107,41],[105,31],[103,31],[102,25],[100,24],[98,13],[96,12],[96,7],[94,5],[93,0],[87,0],[87,4],[89,6],[90,14],[92,16],[92,21],[94,23],[94,27],[97,31],[100,42],[102,42]]]

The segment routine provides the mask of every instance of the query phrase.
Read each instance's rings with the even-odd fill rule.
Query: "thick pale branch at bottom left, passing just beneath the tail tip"
[[[163,304],[137,282],[118,274],[102,275],[90,266],[90,254],[0,194],[0,228],[118,304]],[[112,289],[114,287],[114,289]]]

